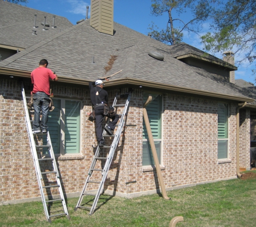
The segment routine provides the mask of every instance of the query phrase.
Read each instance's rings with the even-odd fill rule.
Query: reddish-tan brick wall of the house
[[[25,86],[29,83],[24,81]],[[51,84],[51,88],[55,97],[82,101],[81,153],[57,158],[64,193],[80,194],[95,152],[92,145],[96,145],[94,123],[87,120],[87,112],[91,111],[89,91],[87,86],[67,87],[58,82]],[[26,131],[20,84],[15,79],[1,79],[0,89],[0,203],[40,197]],[[127,91],[124,89],[122,93]],[[113,103],[116,92],[109,91],[109,104]],[[164,94],[163,103],[161,169],[165,187],[171,190],[176,186],[236,177],[237,105],[229,105],[229,158],[219,163],[217,101]],[[159,188],[155,169],[142,166],[142,107],[143,91],[135,89],[126,119],[129,126],[122,132],[104,186],[105,190],[114,191],[117,195],[136,196]],[[121,113],[122,108],[117,112]],[[247,123],[241,127],[241,135],[246,134],[247,127]],[[106,143],[111,142],[106,140]],[[250,162],[250,158],[245,158],[242,163],[247,165],[247,162]],[[101,168],[102,164],[97,165]],[[96,186],[90,189],[96,189]]]

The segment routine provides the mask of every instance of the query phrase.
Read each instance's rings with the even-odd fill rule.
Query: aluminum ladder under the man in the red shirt
[[[67,205],[65,202],[64,194],[63,194],[63,189],[62,189],[61,183],[60,183],[60,175],[59,175],[58,167],[57,167],[56,160],[54,157],[50,133],[49,132],[47,132],[47,134],[46,133],[45,134],[43,134],[43,133],[33,134],[32,133],[32,127],[31,127],[32,118],[29,114],[29,109],[27,108],[27,102],[26,102],[26,96],[25,96],[23,83],[22,83],[22,96],[23,96],[24,107],[25,107],[25,112],[26,112],[25,118],[26,118],[27,133],[29,133],[30,147],[31,147],[33,161],[34,161],[34,167],[36,168],[37,181],[38,181],[38,185],[39,185],[39,189],[40,189],[40,193],[41,193],[41,199],[42,199],[42,202],[44,205],[46,219],[50,223],[51,223],[51,217],[54,217],[54,216],[66,215],[67,218],[70,219],[70,215],[68,215]],[[38,144],[38,136],[41,136],[42,140],[43,140],[43,137],[46,136],[47,137],[46,138],[47,145],[37,145]],[[48,153],[50,154],[50,157],[43,158],[43,155],[40,155],[40,152],[38,151],[38,149],[41,149],[41,148],[47,148]],[[51,169],[53,171],[41,172],[41,169],[43,169],[43,165],[45,165],[45,163],[44,163],[45,161],[47,161],[48,165],[51,164]],[[54,181],[46,182],[46,183],[44,183],[44,186],[43,186],[43,181],[47,177],[49,177],[51,180],[54,179]],[[52,195],[51,190],[54,190],[54,188],[59,189],[58,195],[56,195],[57,190],[55,190],[54,195]],[[47,197],[47,200],[46,200],[46,197]],[[58,202],[61,201],[64,212],[61,212],[60,214],[50,215],[50,213],[51,213],[50,205],[56,201],[58,201]],[[48,205],[47,205],[47,203],[48,203]],[[58,210],[57,212],[60,212],[60,211]]]

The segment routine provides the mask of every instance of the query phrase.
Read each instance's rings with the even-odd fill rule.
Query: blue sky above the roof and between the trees
[[[28,3],[22,3],[21,5],[27,6],[32,9],[37,9],[44,12],[52,13],[56,16],[66,17],[72,24],[77,24],[81,19],[86,17],[86,6],[89,6],[90,18],[90,0],[27,0]],[[150,24],[154,22],[159,28],[164,28],[168,22],[168,15],[155,17],[150,15],[151,0],[114,0],[114,22],[129,27],[137,32],[147,35],[150,30]],[[178,15],[174,15],[178,17]],[[174,18],[173,17],[173,18]],[[183,16],[184,17],[184,16]],[[189,13],[186,13],[188,20]],[[52,19],[50,20],[52,23]],[[57,22],[57,17],[56,17]],[[209,30],[209,24],[203,25],[203,30],[200,35],[203,35]],[[200,38],[197,34],[188,34],[184,32],[183,42],[191,46],[197,47],[203,50],[203,45],[200,44]],[[210,53],[210,52],[209,52]],[[213,54],[213,53],[210,53]],[[220,53],[215,55],[222,59],[223,55]],[[239,60],[240,56],[235,56],[235,61]],[[255,82],[255,77],[252,75],[252,68],[254,65],[249,65],[247,62],[239,65],[238,70],[235,72],[236,79],[243,79],[248,82]]]

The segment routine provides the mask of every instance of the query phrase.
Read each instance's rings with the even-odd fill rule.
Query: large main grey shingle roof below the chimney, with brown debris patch
[[[46,58],[49,68],[56,71],[58,76],[94,81],[105,74],[109,59],[116,55],[107,75],[121,69],[122,72],[114,75],[111,80],[130,78],[246,97],[222,76],[175,59],[175,46],[165,45],[117,23],[114,23],[114,30],[114,36],[100,33],[89,25],[89,20],[85,20],[3,60],[0,67],[32,71],[40,59]],[[183,43],[182,46],[185,51],[191,50],[189,45]],[[149,56],[149,51],[161,53],[164,60]]]

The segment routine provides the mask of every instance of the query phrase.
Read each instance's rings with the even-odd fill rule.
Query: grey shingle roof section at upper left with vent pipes
[[[36,25],[34,29],[34,15],[37,15]],[[43,31],[44,16],[46,16],[46,31]],[[0,1],[0,44],[7,46],[15,46],[27,48],[39,41],[44,40],[53,34],[59,33],[73,26],[65,17],[56,16],[52,29],[53,15],[43,11],[27,8],[18,4]],[[37,35],[32,35],[36,30]]]

